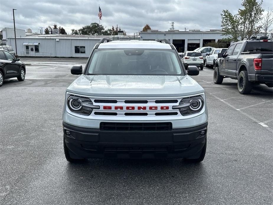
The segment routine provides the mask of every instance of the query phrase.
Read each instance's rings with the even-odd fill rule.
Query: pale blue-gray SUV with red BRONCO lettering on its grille
[[[204,89],[167,39],[102,39],[67,89],[63,146],[85,158],[184,158],[201,162],[207,143]],[[165,42],[165,43],[160,43]],[[188,75],[187,75],[188,74]],[[187,77],[185,77],[187,76]]]

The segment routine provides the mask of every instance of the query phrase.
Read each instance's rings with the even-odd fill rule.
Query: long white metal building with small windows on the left
[[[139,36],[103,35],[32,35],[16,38],[18,56],[89,57],[102,38],[111,40],[140,40]],[[7,45],[15,50],[15,38],[7,38]]]

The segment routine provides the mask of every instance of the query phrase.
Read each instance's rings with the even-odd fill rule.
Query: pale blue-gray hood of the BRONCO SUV
[[[89,96],[173,97],[198,94],[204,89],[188,75],[81,75],[66,91]]]

